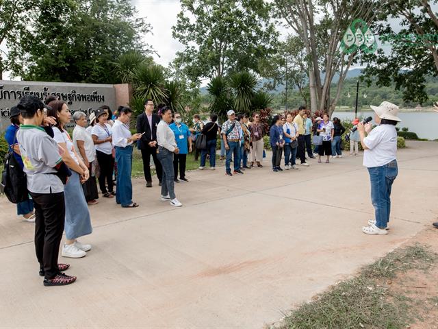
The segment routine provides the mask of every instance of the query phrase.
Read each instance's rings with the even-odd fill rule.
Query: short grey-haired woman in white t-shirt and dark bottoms
[[[94,113],[93,113],[94,114]],[[79,158],[86,165],[91,173],[93,162],[96,160],[96,151],[91,134],[86,131],[87,116],[84,112],[77,111],[73,114],[75,121],[75,129],[73,129],[73,145]],[[96,199],[99,199],[97,193],[96,178],[90,175],[90,178],[82,184],[83,193],[88,204],[98,204]]]

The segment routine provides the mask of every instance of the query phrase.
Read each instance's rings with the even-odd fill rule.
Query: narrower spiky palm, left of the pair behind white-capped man
[[[231,90],[228,86],[227,79],[218,76],[210,80],[207,84],[207,92],[211,96],[209,110],[211,113],[218,114],[221,122],[227,120],[227,111],[233,106],[231,101]]]

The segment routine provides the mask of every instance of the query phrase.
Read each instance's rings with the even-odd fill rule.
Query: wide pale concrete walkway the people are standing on
[[[399,151],[387,236],[366,236],[370,183],[361,156],[228,178],[188,173],[183,208],[134,184],[136,209],[92,206],[78,277],[43,287],[33,224],[0,198],[1,328],[262,328],[429,226],[438,215],[438,143]]]

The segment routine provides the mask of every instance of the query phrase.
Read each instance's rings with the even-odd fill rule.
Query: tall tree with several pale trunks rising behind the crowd
[[[381,10],[381,1],[274,0],[274,3],[278,16],[305,45],[311,110],[333,113],[348,69],[357,60],[357,51],[344,54],[340,41],[354,19],[372,23]],[[330,86],[335,73],[339,73],[339,82],[332,99]]]

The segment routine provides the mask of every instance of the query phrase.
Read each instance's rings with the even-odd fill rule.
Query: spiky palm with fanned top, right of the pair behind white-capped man
[[[240,113],[250,113],[257,78],[249,72],[233,73],[229,77],[229,85],[233,89],[234,108]]]

